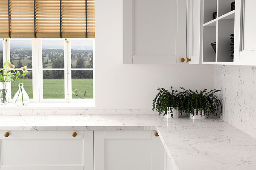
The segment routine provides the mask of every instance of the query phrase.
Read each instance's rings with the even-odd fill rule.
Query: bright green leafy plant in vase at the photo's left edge
[[[11,88],[11,81],[15,79],[15,74],[10,70],[6,70],[6,64],[9,61],[6,61],[3,64],[3,69],[0,69],[0,102],[1,105],[7,105],[9,102],[9,94]]]

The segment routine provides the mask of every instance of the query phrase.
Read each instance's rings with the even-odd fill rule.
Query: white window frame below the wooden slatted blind
[[[42,63],[42,40],[53,40],[45,38],[7,38],[6,42],[3,41],[3,62],[10,60],[10,40],[32,40],[32,84],[33,84],[33,99],[30,99],[30,102],[34,103],[52,103],[59,102],[59,106],[63,103],[67,105],[67,102],[76,103],[76,106],[81,102],[83,107],[87,105],[92,107],[95,106],[95,40],[93,38],[81,38],[81,39],[61,39],[54,38],[54,40],[63,40],[64,41],[64,99],[43,99],[43,63]],[[72,99],[72,79],[71,79],[71,40],[93,40],[93,68],[82,68],[77,70],[93,70],[93,99]],[[50,69],[49,69],[50,70]],[[62,70],[62,69],[57,69]],[[38,89],[38,90],[37,90]],[[26,89],[25,89],[26,90]],[[13,99],[10,99],[10,102],[13,102]],[[65,104],[66,103],[66,104]],[[87,103],[87,104],[86,104]],[[69,105],[70,105],[69,104]],[[75,105],[75,104],[74,104]],[[33,107],[35,105],[33,104]]]

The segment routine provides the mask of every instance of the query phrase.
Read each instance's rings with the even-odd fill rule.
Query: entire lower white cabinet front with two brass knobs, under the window
[[[0,131],[0,140],[1,170],[93,170],[92,131]]]

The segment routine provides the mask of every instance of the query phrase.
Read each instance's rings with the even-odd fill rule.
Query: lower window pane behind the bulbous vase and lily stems
[[[15,70],[17,71],[17,70]],[[20,71],[20,70],[19,70]],[[20,78],[20,81],[22,81],[22,78]],[[16,94],[16,92],[19,90],[19,81],[12,81],[12,98]],[[27,75],[24,76],[23,79],[23,87],[26,91],[26,93],[29,95],[29,99],[33,99],[33,83],[32,83],[32,71],[29,70]]]

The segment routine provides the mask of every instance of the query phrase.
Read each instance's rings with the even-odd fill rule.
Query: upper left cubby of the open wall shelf
[[[204,0],[204,24],[212,20],[212,13],[216,11],[217,0]]]

